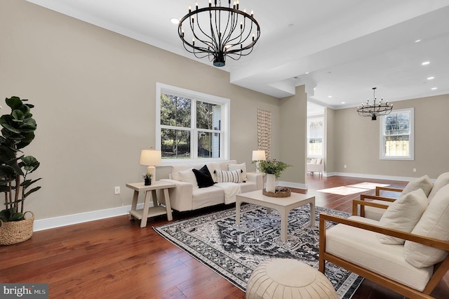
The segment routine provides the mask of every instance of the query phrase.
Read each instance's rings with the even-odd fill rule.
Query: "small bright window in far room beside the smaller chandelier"
[[[414,159],[414,109],[393,110],[380,118],[380,159]]]

